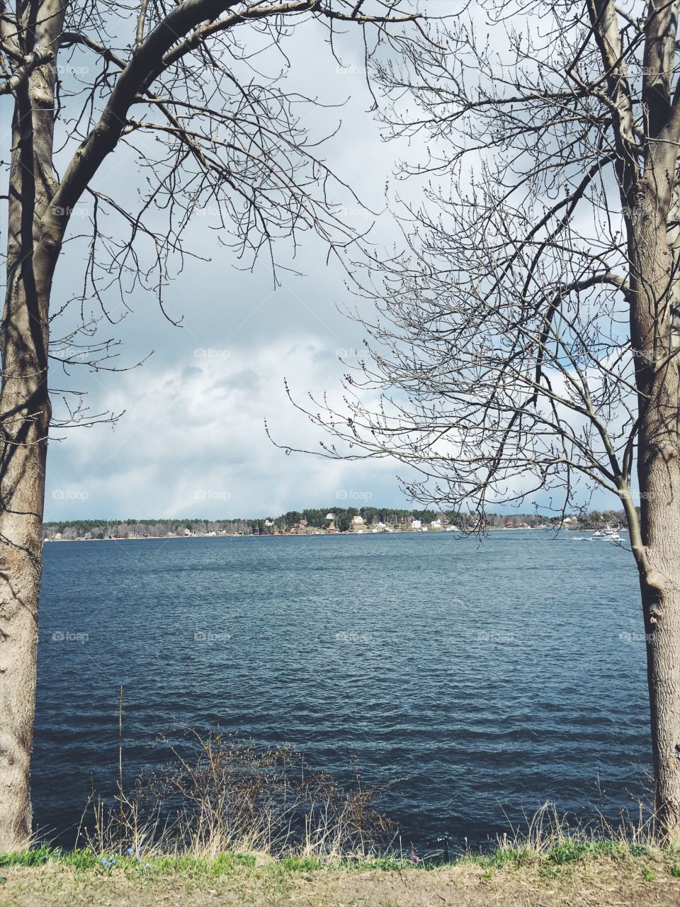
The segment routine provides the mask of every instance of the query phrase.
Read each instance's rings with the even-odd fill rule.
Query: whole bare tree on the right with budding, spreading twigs
[[[677,17],[675,2],[481,0],[440,46],[381,66],[387,133],[429,142],[401,168],[423,194],[401,209],[405,251],[374,255],[364,281],[378,313],[355,314],[370,339],[347,409],[304,407],[334,436],[324,455],[397,457],[415,497],[467,507],[478,527],[488,502],[539,489],[560,507],[617,495],[642,593],[656,818],[675,841]]]

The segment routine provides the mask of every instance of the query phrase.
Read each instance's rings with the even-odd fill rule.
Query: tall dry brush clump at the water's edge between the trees
[[[345,790],[287,747],[259,752],[219,733],[188,736],[188,746],[172,748],[174,764],[162,774],[142,776],[127,791],[121,771],[111,801],[92,791],[79,835],[87,848],[334,859],[364,858],[393,840],[395,826],[373,805],[378,790],[358,775]]]

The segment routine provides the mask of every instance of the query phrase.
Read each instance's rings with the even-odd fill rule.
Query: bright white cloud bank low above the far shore
[[[324,337],[282,337],[200,367],[153,364],[118,375],[92,405],[126,409],[121,421],[73,430],[51,447],[45,519],[267,516],[330,506],[345,493],[406,506],[394,463],[287,456],[267,438],[266,418],[282,443],[318,449],[319,431],[290,404],[284,377],[298,392],[330,388],[337,398],[327,346]]]

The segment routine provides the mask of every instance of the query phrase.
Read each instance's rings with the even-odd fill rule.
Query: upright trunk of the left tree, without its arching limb
[[[22,51],[53,50],[63,3],[41,5]],[[45,222],[53,198],[54,63],[16,89],[8,205],[7,292],[0,333],[0,851],[31,835],[38,595],[43,565],[48,308],[59,251]]]

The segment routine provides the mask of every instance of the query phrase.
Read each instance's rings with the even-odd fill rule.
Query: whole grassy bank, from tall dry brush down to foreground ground
[[[141,785],[130,799],[100,802],[90,847],[0,855],[0,907],[680,903],[680,848],[656,842],[643,814],[616,830],[600,823],[575,831],[545,805],[487,853],[467,851],[448,865],[416,863],[371,855],[366,829],[379,814],[363,791],[337,794],[324,775],[309,775],[287,753],[257,754],[219,737],[206,744],[197,762]],[[153,818],[142,791],[152,793]],[[168,792],[185,799],[163,824]],[[139,852],[128,844],[135,841]]]

